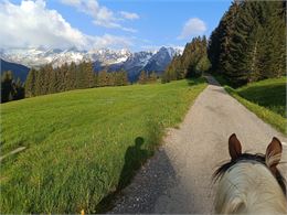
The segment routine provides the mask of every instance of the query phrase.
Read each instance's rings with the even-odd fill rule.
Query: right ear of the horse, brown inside
[[[268,144],[265,154],[265,162],[272,172],[276,171],[276,165],[279,163],[281,158],[281,142],[277,138],[273,138]]]

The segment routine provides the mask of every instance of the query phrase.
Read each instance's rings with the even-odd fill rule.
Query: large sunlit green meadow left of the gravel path
[[[1,213],[97,212],[205,86],[201,78],[104,87],[1,105],[1,155],[26,147],[1,162]]]

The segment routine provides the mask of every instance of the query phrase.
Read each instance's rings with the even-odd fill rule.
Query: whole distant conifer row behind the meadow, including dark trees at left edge
[[[148,74],[142,71],[138,77],[138,83],[155,83],[157,78],[155,72]],[[24,84],[19,78],[14,80],[11,71],[3,72],[1,75],[1,103],[72,89],[126,86],[129,84],[127,72],[124,69],[94,72],[92,62],[79,64],[72,62],[70,65],[65,63],[55,68],[47,64],[39,69],[31,68]]]

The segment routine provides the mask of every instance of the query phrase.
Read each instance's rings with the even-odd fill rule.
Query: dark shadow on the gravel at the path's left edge
[[[115,207],[108,214],[155,213],[158,200],[169,197],[168,190],[176,185],[176,178],[169,157],[159,149],[116,197]]]

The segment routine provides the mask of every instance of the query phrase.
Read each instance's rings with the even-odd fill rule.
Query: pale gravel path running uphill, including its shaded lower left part
[[[210,85],[196,98],[179,129],[169,129],[164,144],[116,198],[109,213],[213,213],[211,175],[228,159],[227,139],[235,132],[243,151],[265,152],[275,136],[263,122],[208,76]],[[284,146],[283,160],[287,161]],[[280,170],[287,178],[287,165]]]

